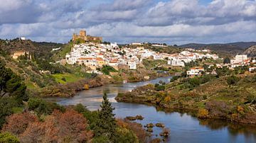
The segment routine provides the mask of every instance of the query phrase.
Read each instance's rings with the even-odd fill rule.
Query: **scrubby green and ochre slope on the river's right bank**
[[[255,74],[238,76],[235,85],[230,77],[202,77],[198,86],[188,85],[195,79],[179,79],[170,84],[149,84],[127,93],[119,93],[118,102],[146,103],[166,110],[189,110],[200,119],[256,124],[254,101]],[[208,79],[207,79],[208,78]],[[207,79],[207,80],[206,80]]]

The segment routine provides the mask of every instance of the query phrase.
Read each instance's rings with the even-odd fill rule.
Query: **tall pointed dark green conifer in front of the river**
[[[113,141],[117,137],[117,122],[114,118],[114,108],[107,99],[107,93],[104,93],[100,107],[102,110],[99,112],[99,118],[94,129],[95,137],[105,136]]]

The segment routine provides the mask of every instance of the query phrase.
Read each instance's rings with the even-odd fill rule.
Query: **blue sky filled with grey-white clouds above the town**
[[[68,42],[256,41],[256,0],[0,0],[0,38]]]

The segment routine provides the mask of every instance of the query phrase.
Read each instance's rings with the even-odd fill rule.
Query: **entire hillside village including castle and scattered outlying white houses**
[[[20,38],[25,40],[25,38]],[[211,50],[195,50],[193,48],[184,48],[182,52],[175,54],[168,54],[165,52],[155,52],[144,47],[144,42],[133,42],[130,45],[136,46],[131,48],[129,46],[119,47],[116,42],[102,42],[101,37],[94,37],[86,35],[85,30],[80,30],[80,34],[73,34],[73,47],[71,51],[56,63],[60,64],[78,64],[86,66],[90,70],[88,73],[102,74],[97,70],[104,65],[113,67],[116,70],[129,69],[134,70],[142,64],[144,59],[151,60],[166,60],[167,64],[172,67],[185,67],[190,62],[195,62],[197,59],[220,59],[218,55],[213,54]],[[155,47],[166,47],[166,44],[154,44]],[[55,48],[53,51],[58,51],[60,48]],[[13,54],[14,59],[22,55],[29,55],[26,51],[16,51]],[[235,67],[249,66],[249,71],[255,71],[255,59],[250,59],[247,55],[236,55],[230,62],[216,63],[208,65],[208,68],[228,67],[234,69]],[[156,65],[157,66],[157,65]],[[206,67],[192,67],[186,71],[189,77],[201,76],[203,73],[216,74],[215,69],[207,72]],[[48,71],[42,71],[48,72]]]

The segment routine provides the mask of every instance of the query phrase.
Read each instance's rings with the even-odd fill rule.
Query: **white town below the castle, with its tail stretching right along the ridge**
[[[117,43],[103,44],[87,42],[74,45],[72,51],[65,56],[68,64],[80,64],[95,70],[103,65],[110,65],[114,69],[137,69],[137,65],[143,59],[168,59],[168,64],[172,66],[184,67],[186,62],[191,62],[203,57],[217,59],[218,55],[210,53],[183,51],[179,54],[167,54],[154,52],[144,47],[119,48]]]

